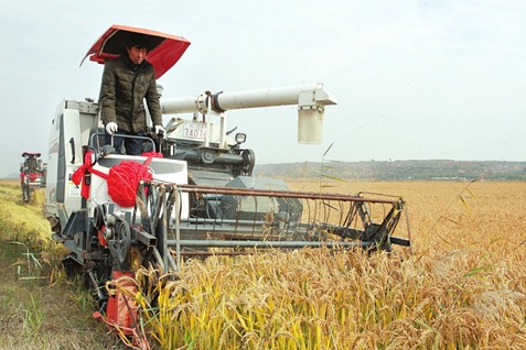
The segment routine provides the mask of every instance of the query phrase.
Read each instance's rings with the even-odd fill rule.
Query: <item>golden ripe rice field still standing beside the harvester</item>
[[[132,296],[151,347],[526,348],[526,183],[333,182],[323,192],[401,196],[412,253],[256,251],[187,260],[176,277],[141,270]],[[39,205],[21,215],[41,215]],[[409,234],[406,222],[396,234]]]

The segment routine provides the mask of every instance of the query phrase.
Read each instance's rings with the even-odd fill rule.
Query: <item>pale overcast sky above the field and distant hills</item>
[[[230,111],[258,163],[526,161],[526,1],[0,0],[0,177],[47,160],[62,99],[97,98],[79,63],[111,24],[192,44],[164,97],[323,83],[323,143],[297,143],[296,107]],[[170,117],[165,117],[168,122]]]

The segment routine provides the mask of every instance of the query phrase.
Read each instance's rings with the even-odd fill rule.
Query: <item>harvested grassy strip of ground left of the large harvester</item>
[[[30,204],[21,193],[17,182],[0,183],[0,349],[125,349],[58,267],[66,252],[50,239],[43,193]]]

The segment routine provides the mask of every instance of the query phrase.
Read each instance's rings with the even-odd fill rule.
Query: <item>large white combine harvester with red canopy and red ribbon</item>
[[[130,32],[148,35],[157,78],[190,45],[114,25],[86,56],[98,63],[117,56]],[[63,100],[50,135],[45,214],[53,239],[69,250],[65,265],[87,278],[106,320],[131,333],[133,317],[122,316],[128,306],[105,286],[138,266],[176,272],[183,256],[254,248],[409,247],[391,236],[401,198],[291,192],[282,181],[256,177],[246,135],[232,135],[226,124],[228,110],[296,105],[298,141],[319,143],[324,110],[335,103],[321,84],[162,98],[163,113],[172,116],[167,134],[143,138],[147,152],[131,156],[104,144],[96,102]]]

